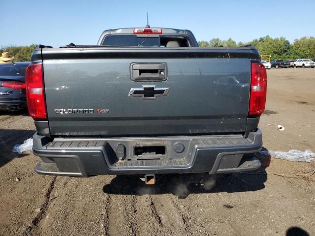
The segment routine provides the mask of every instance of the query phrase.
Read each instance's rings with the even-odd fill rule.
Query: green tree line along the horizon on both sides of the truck
[[[198,41],[200,47],[240,47],[244,45],[255,46],[260,55],[271,55],[272,59],[315,59],[315,37],[302,37],[295,39],[291,44],[285,37],[272,38],[269,35],[254,39],[251,42],[235,42],[232,38],[221,40],[213,38],[210,41]],[[0,48],[2,52],[8,52],[14,56],[14,61],[30,61],[32,51],[36,44],[30,46],[5,46]]]

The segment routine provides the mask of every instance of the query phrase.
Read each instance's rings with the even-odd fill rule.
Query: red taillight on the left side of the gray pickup
[[[35,120],[47,119],[41,64],[31,64],[26,68],[25,84],[26,100],[31,117]]]

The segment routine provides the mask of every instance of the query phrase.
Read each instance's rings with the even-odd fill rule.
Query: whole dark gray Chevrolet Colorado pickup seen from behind
[[[199,48],[189,30],[111,29],[40,46],[27,68],[44,175],[231,173],[260,167],[266,69],[254,47]]]

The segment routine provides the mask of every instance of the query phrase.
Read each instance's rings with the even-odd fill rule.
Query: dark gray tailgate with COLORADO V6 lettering
[[[51,135],[245,132],[251,49],[61,48],[41,53]],[[130,66],[142,62],[165,64],[167,79],[131,80]]]

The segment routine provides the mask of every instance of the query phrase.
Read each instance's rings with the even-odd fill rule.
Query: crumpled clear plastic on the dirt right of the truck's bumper
[[[271,150],[261,150],[259,152],[262,155],[268,155],[270,154],[271,156],[279,159],[284,159],[288,161],[306,161],[306,162],[312,162],[314,161],[315,158],[315,153],[310,150],[306,149],[305,151],[300,151],[300,150],[289,150],[289,151],[271,151]]]

